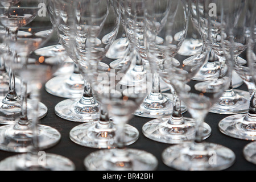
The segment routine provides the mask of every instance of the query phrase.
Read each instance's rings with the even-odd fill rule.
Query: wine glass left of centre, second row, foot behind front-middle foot
[[[59,1],[59,3],[62,3],[62,5],[65,5],[65,6],[58,6],[61,8],[61,9],[59,8],[60,11],[69,15],[68,19],[67,19],[68,21],[65,24],[65,26],[69,27],[70,30],[72,30],[72,28],[74,26],[73,23],[76,20],[76,16],[75,16],[75,14],[73,14],[73,10],[76,10],[76,7],[75,7],[76,3],[79,3],[79,2],[81,2],[81,1],[77,1],[77,2]],[[113,10],[113,4],[109,4],[109,2],[106,3],[105,1],[100,4],[106,5],[106,7],[110,8],[110,12],[112,12],[111,10]],[[84,7],[83,7],[83,9],[84,9]],[[104,10],[105,9],[102,9],[100,11],[104,11]],[[81,20],[81,22],[83,22],[83,21],[85,22],[85,20],[87,18],[87,16],[86,16],[87,11],[88,10],[86,10],[85,12],[82,13],[81,16],[83,19]],[[112,20],[118,20],[115,22],[116,27],[114,27],[114,28],[117,28],[117,30],[118,30],[118,28],[119,28],[118,17],[119,16],[120,15],[115,16],[115,14],[106,15],[105,22],[109,23]],[[82,26],[81,22],[77,22],[76,26],[79,26],[79,27]],[[111,26],[113,28],[114,25],[109,24],[109,27],[111,27]],[[108,27],[108,24],[106,25],[106,28],[107,27]],[[112,28],[110,28],[110,30],[112,30]],[[82,31],[84,31],[83,35],[86,35],[86,30],[82,30]],[[82,76],[84,76],[84,78],[88,79],[89,78],[88,77],[89,65],[86,62],[87,60],[81,61],[81,60],[84,60],[84,58],[83,58],[84,55],[87,55],[88,53],[86,53],[86,51],[84,51],[84,50],[79,51],[79,49],[84,46],[84,45],[82,45],[82,42],[86,39],[84,39],[84,37],[81,36],[82,34],[79,34],[77,36],[77,40],[76,40],[76,39],[74,39],[73,34],[74,34],[74,32],[71,32],[71,31],[67,32],[67,34],[65,35],[65,37],[67,39],[65,40],[64,47],[69,47],[69,46],[72,47],[72,48],[69,48],[68,53],[71,56],[75,55],[73,58],[77,60],[77,65],[80,69]],[[98,43],[101,43],[101,42],[108,43],[109,36],[110,35],[116,36],[117,32],[113,33],[112,31],[105,31],[104,34],[105,35],[102,34],[102,40],[97,39]],[[78,42],[78,41],[81,41],[81,42]],[[60,42],[63,42],[63,40],[60,40]],[[107,51],[110,44],[108,43],[105,46],[106,46],[105,50]],[[76,53],[76,52],[82,53],[82,55],[80,56],[80,54]],[[99,69],[102,69],[105,71],[107,71],[109,69],[109,65],[106,63],[103,63],[103,62],[100,62],[97,66]],[[96,84],[96,83],[92,82],[92,84]],[[90,85],[91,84],[88,82],[88,84],[87,84],[88,88]],[[92,88],[89,88],[89,89],[92,90]],[[92,91],[90,91],[90,92],[92,92]],[[67,104],[67,106],[69,106],[69,104]],[[86,147],[92,147],[92,148],[113,148],[113,147],[115,147],[114,137],[116,135],[115,132],[117,130],[116,126],[113,123],[113,121],[111,120],[111,118],[108,114],[108,110],[106,110],[105,107],[100,106],[99,113],[100,114],[98,115],[98,117],[95,117],[94,121],[85,122],[81,125],[74,127],[69,133],[70,139],[73,142],[80,144],[81,146],[86,146]],[[81,116],[81,114],[77,114],[77,117],[82,117],[82,116]],[[81,119],[81,121],[82,121],[82,119]],[[134,143],[139,137],[138,130],[135,129],[135,127],[130,126],[130,125],[125,125],[125,127],[126,127],[126,130],[125,130],[126,145]]]

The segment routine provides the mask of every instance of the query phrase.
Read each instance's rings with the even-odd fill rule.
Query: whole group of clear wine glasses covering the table
[[[246,97],[250,98],[250,107],[245,106],[247,114],[222,119],[219,128],[230,137],[255,139],[255,81],[250,68],[254,68],[255,61],[253,15],[256,10],[252,0],[228,1],[232,3],[223,0],[3,1],[1,52],[5,67],[9,68],[10,84],[1,111],[14,113],[16,119],[9,119],[4,123],[8,125],[0,127],[0,148],[27,153],[3,160],[0,168],[75,169],[69,159],[55,154],[46,154],[46,163],[38,163],[38,151],[54,146],[61,137],[57,130],[38,125],[38,119],[46,114],[39,113],[38,93],[48,80],[49,93],[68,98],[55,106],[55,113],[66,120],[82,122],[70,131],[70,139],[81,146],[100,149],[84,159],[88,170],[156,169],[158,160],[154,155],[126,147],[139,138],[139,131],[127,123],[133,114],[156,118],[142,127],[147,138],[174,144],[162,153],[167,166],[181,170],[221,170],[232,166],[236,158],[232,150],[204,142],[211,134],[204,119],[208,111],[214,113],[211,108],[220,103],[223,94],[233,94],[230,83],[236,71],[249,88],[251,97]],[[210,3],[218,7],[216,15],[209,14]],[[199,52],[186,55],[180,48],[186,43],[191,17],[202,43]],[[55,30],[59,44],[38,49],[52,38]],[[117,39],[118,34],[121,39]],[[117,48],[124,51],[115,55],[113,49]],[[247,60],[238,58],[245,50]],[[54,53],[47,55],[50,51]],[[39,52],[38,59],[28,59]],[[50,80],[64,63],[72,65],[70,75],[64,78],[60,74]],[[196,79],[209,63],[214,65],[214,74],[207,80]],[[20,97],[15,91],[15,75],[22,78]],[[171,94],[162,93],[168,89],[161,89],[161,81],[168,85]],[[62,86],[54,89],[69,88],[68,96],[51,89],[57,82]],[[236,96],[225,98],[224,104],[236,102]],[[242,98],[238,100],[244,102]],[[7,109],[12,110],[7,112]],[[187,109],[192,118],[183,117]],[[217,109],[228,111],[224,107]],[[250,143],[243,150],[250,162],[253,162],[253,147],[255,143]],[[209,163],[212,152],[217,160]]]

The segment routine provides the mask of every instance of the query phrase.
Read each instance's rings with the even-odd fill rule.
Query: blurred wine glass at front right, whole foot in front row
[[[200,6],[200,10],[209,12],[210,1],[195,1],[196,6]],[[236,3],[226,3],[220,1],[217,5],[217,10],[223,12],[224,6],[236,5]],[[205,9],[203,9],[203,7]],[[237,12],[234,6],[230,6],[229,12],[233,14]],[[198,11],[197,11],[198,13]],[[206,13],[206,12],[205,12]],[[230,15],[230,14],[229,14]],[[222,16],[221,16],[222,17]],[[208,25],[205,35],[208,35],[204,48],[208,49],[209,44],[212,43],[211,31],[216,30],[210,21],[217,16],[207,16],[204,23]],[[218,17],[219,18],[219,17]],[[221,27],[228,26],[221,24]],[[218,27],[217,27],[218,28]],[[207,34],[208,33],[208,34]],[[212,77],[211,80],[205,84],[202,81],[194,81],[193,72],[198,70],[195,64],[181,64],[180,67],[167,66],[166,77],[173,83],[179,97],[188,106],[188,111],[196,120],[196,135],[195,141],[192,143],[176,144],[166,148],[162,153],[164,164],[169,167],[180,170],[222,170],[226,169],[234,163],[236,156],[229,148],[221,146],[220,144],[203,142],[201,124],[207,115],[209,108],[218,100],[224,90],[227,88],[233,70],[233,47],[228,43],[223,47],[225,60],[221,62],[221,71],[217,77]],[[168,53],[168,51],[167,51]],[[205,59],[207,61],[207,59]],[[199,64],[201,66],[201,64]],[[169,69],[168,69],[169,68]],[[164,74],[163,74],[164,75]],[[210,82],[211,81],[211,82]],[[190,90],[185,90],[185,85],[190,86]]]

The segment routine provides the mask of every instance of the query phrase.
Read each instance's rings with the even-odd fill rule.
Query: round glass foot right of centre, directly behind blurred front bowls
[[[162,93],[162,95],[163,98],[160,99],[158,96],[150,99],[147,97],[139,108],[135,110],[134,115],[146,118],[170,117],[174,109],[172,94]],[[185,111],[187,111],[187,107],[181,104],[181,113]]]

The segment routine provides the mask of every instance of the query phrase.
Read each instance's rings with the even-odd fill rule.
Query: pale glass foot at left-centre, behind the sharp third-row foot
[[[81,98],[84,93],[84,79],[80,74],[53,77],[46,83],[46,91],[63,98]]]

